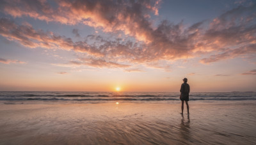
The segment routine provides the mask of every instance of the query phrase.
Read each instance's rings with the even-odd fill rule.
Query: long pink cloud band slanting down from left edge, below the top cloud
[[[90,55],[102,55],[97,48],[82,41],[74,43],[71,38],[57,36],[53,32],[36,31],[31,25],[16,25],[6,18],[0,18],[0,35],[29,48],[74,50]]]

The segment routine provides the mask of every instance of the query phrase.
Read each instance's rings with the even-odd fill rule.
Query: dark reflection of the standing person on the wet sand
[[[181,141],[189,141],[190,139],[190,119],[189,114],[187,118],[184,118],[184,114],[181,114],[182,119],[180,121],[180,139]]]

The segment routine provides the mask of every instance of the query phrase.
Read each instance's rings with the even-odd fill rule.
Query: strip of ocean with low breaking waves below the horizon
[[[61,103],[179,103],[179,92],[0,92],[0,100]],[[192,102],[256,100],[256,92],[191,92]]]

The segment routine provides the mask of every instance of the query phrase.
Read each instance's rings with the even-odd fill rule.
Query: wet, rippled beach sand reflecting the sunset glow
[[[256,144],[255,101],[0,104],[0,144]]]

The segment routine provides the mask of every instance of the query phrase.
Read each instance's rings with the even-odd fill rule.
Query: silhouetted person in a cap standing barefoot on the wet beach
[[[189,92],[190,92],[190,86],[188,85],[188,79],[184,78],[182,79],[184,83],[180,86],[180,100],[181,100],[181,113],[183,114],[183,109],[184,109],[184,101],[186,102],[188,114],[189,114],[189,106],[188,106],[188,101],[189,101]]]

